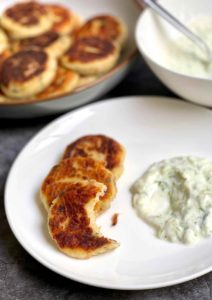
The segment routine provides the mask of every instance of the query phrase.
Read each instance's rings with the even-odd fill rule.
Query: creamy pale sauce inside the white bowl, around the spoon
[[[188,27],[196,33],[212,51],[212,18],[193,20]],[[194,77],[212,78],[212,62],[205,53],[187,37],[180,36],[167,42],[164,66]]]

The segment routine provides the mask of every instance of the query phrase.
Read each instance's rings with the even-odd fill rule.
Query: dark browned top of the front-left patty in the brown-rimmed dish
[[[21,51],[7,58],[1,69],[1,83],[25,82],[45,70],[47,54],[42,51]]]

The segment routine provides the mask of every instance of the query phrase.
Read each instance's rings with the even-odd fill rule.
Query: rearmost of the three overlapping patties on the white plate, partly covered
[[[125,150],[115,140],[104,135],[88,135],[71,143],[65,150],[63,159],[71,157],[91,157],[101,161],[119,178],[123,171]]]

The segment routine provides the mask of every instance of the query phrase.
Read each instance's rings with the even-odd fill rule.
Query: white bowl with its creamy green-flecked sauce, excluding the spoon
[[[212,50],[210,0],[161,0],[171,14]],[[136,42],[155,75],[180,97],[212,107],[212,61],[195,44],[147,8],[136,26]]]

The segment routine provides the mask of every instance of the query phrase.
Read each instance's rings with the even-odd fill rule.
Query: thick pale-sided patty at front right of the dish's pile
[[[118,57],[119,49],[110,41],[86,37],[74,40],[61,62],[82,75],[96,75],[109,71]]]

